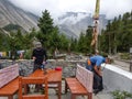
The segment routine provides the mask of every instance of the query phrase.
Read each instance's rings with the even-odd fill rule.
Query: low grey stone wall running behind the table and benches
[[[21,76],[28,76],[33,70],[33,61],[31,61],[31,59],[15,61],[14,63],[19,64],[19,66],[20,66],[19,69],[20,69]],[[2,62],[1,66],[3,68],[7,66],[10,66],[11,64],[14,64],[14,63],[10,62],[10,61],[4,61],[4,62]],[[55,67],[62,67],[63,68],[63,78],[65,78],[65,77],[75,76],[75,70],[76,70],[77,64],[80,64],[81,66],[85,67],[85,61],[48,59],[47,64],[45,65],[45,68],[55,69]]]

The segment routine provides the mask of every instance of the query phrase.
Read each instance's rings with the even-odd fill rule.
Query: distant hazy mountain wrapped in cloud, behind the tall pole
[[[99,29],[105,29],[108,20],[100,14]],[[86,33],[88,25],[94,25],[92,15],[86,12],[66,12],[58,16],[57,24],[67,36],[78,37],[81,32]]]

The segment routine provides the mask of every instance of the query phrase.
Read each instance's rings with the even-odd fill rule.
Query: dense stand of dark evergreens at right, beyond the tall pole
[[[132,14],[127,12],[122,16],[119,15],[119,18],[108,22],[107,29],[101,35],[101,43],[106,47],[109,45],[109,54],[129,52],[132,46]]]

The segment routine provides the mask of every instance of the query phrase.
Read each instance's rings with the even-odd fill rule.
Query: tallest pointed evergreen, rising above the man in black
[[[51,34],[54,31],[54,25],[53,19],[47,10],[42,12],[42,18],[38,19],[37,26],[40,28],[40,32],[36,37],[46,48],[50,48],[51,45],[48,38],[51,38]]]

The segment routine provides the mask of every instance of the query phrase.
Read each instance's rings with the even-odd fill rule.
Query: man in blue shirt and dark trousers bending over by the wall
[[[102,75],[101,75],[101,64],[103,64],[103,63],[109,63],[108,56],[103,57],[101,55],[94,55],[86,63],[86,68],[88,70],[94,72],[95,94],[97,94],[103,89]]]

